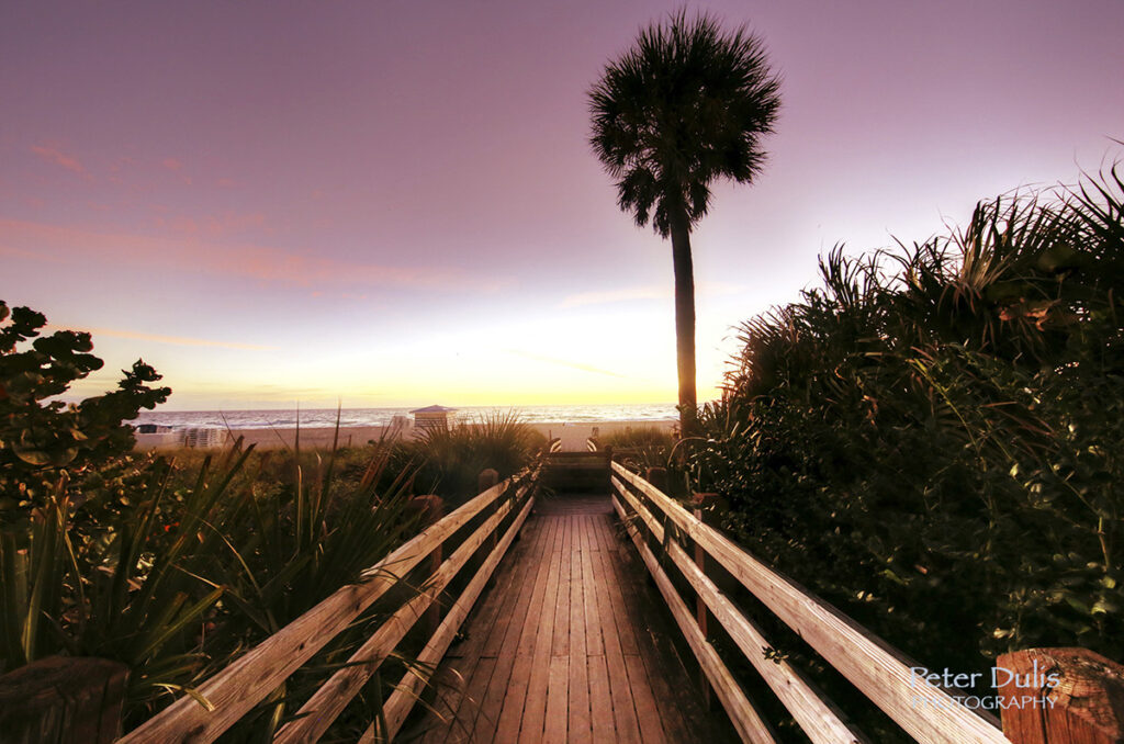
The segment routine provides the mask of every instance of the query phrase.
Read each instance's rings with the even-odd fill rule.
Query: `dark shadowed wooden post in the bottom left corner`
[[[108,659],[48,656],[0,677],[0,744],[109,744],[128,675]]]

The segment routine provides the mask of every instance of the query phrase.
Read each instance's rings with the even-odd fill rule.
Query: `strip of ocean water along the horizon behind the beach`
[[[409,416],[414,408],[344,408],[339,411],[339,426],[387,426],[393,416]],[[528,424],[545,421],[658,421],[678,419],[674,403],[620,403],[599,406],[465,406],[457,408],[462,421],[478,421],[490,414],[516,412]],[[232,429],[262,428],[330,428],[336,425],[335,408],[291,410],[201,410],[201,411],[140,411],[133,424],[157,424],[173,427],[221,427]]]

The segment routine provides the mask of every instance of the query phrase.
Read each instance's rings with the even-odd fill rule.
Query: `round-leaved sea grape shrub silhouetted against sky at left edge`
[[[9,310],[0,300],[0,510],[34,508],[63,477],[103,482],[96,473],[135,444],[123,421],[164,402],[172,392],[151,387],[161,376],[137,360],[123,371],[117,390],[79,403],[48,400],[103,362],[90,353],[90,334],[56,330],[42,336],[46,323],[42,312]]]

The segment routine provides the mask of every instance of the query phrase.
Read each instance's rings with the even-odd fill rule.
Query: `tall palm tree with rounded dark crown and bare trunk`
[[[590,144],[617,181],[620,209],[671,237],[686,435],[697,414],[691,228],[710,205],[711,181],[750,183],[761,173],[760,139],[772,131],[780,80],[761,39],[744,28],[725,35],[709,16],[688,20],[683,10],[669,20],[642,30],[590,90]]]

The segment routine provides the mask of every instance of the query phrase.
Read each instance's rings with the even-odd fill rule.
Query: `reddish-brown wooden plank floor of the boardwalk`
[[[398,741],[724,742],[607,496],[536,505]]]

